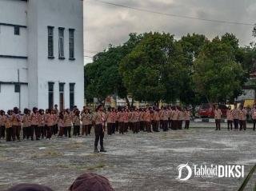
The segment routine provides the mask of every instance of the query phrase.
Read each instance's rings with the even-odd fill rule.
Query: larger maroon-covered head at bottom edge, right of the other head
[[[114,191],[110,181],[95,173],[84,173],[70,186],[70,191]]]

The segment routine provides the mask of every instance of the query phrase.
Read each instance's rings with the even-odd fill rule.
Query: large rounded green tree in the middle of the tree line
[[[127,90],[138,101],[176,101],[185,59],[170,34],[148,33],[122,60],[120,71]]]

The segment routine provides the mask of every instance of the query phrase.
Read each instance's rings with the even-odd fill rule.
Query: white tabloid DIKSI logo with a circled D
[[[192,173],[192,169],[194,173]],[[187,173],[186,177],[182,177],[183,173]],[[178,179],[179,181],[187,181],[192,177],[244,177],[244,165],[193,165],[193,168],[186,164],[178,165]]]

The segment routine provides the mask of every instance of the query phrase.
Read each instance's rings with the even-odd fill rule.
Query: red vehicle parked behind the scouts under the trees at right
[[[226,105],[218,105],[218,108],[222,110],[222,117],[226,117]],[[206,118],[206,117],[214,117],[214,105],[210,103],[203,103],[198,110],[199,117]]]

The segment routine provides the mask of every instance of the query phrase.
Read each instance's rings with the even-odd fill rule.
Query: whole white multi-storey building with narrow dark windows
[[[82,0],[0,0],[0,109],[84,104]]]

